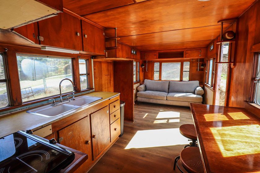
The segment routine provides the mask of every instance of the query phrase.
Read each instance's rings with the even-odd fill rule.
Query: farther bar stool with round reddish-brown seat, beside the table
[[[188,141],[192,141],[189,144],[185,145],[184,148],[188,147],[188,146],[198,146],[196,144],[197,142],[197,135],[196,135],[196,131],[195,131],[195,127],[193,124],[182,124],[180,126],[180,134],[182,134],[184,137],[187,137]]]

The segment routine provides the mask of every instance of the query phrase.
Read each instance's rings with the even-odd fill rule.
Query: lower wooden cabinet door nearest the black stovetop
[[[87,167],[92,163],[91,134],[89,116],[58,131],[59,143],[88,154]]]

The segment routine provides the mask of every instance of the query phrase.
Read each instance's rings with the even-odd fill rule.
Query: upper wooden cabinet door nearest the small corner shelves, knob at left
[[[105,55],[104,30],[82,22],[83,51]]]

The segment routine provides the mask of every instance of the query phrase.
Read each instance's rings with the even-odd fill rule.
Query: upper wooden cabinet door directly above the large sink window
[[[39,34],[43,37],[40,44],[82,50],[80,19],[67,13],[59,13],[57,16],[38,23]]]

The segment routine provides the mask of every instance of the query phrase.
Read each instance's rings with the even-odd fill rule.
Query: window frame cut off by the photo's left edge
[[[9,86],[8,73],[7,73],[8,69],[7,69],[6,54],[3,52],[0,52],[0,55],[2,56],[2,59],[3,59],[3,69],[4,69],[4,75],[5,75],[5,79],[0,79],[0,83],[6,84],[7,100],[8,100],[7,106],[0,108],[0,110],[1,110],[1,109],[9,107],[11,105],[11,97],[10,97],[10,86]]]

